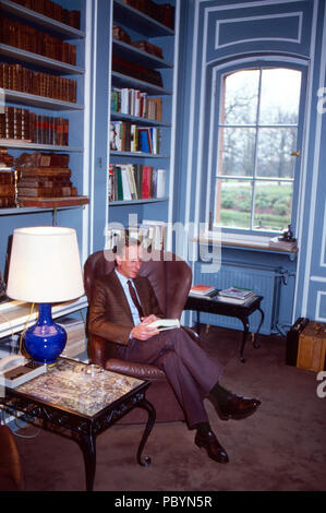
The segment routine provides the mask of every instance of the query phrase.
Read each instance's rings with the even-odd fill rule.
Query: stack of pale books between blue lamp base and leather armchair
[[[67,344],[61,353],[67,358],[73,358],[87,349],[85,324],[82,319],[65,317],[56,321],[64,327],[67,333]]]

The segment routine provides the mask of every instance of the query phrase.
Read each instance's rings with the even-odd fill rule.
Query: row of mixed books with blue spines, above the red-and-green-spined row
[[[111,121],[110,150],[159,155],[160,129],[137,127],[126,121]]]

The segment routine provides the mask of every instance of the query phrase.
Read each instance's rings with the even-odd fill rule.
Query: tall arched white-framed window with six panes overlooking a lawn
[[[291,223],[301,75],[264,67],[221,75],[214,189],[218,226],[280,232]]]

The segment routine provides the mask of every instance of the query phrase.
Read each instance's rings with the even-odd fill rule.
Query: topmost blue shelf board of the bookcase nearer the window
[[[162,25],[153,17],[147,16],[137,9],[128,5],[121,0],[113,2],[113,16],[117,23],[122,23],[130,28],[136,27],[137,32],[148,36],[173,36],[174,31]]]

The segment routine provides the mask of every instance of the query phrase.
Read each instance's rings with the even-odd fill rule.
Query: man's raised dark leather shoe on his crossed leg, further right
[[[214,397],[210,397],[218,415],[222,420],[228,419],[244,419],[254,414],[257,407],[262,404],[259,399],[252,397],[241,397],[240,395],[229,395],[224,404],[217,404]]]

